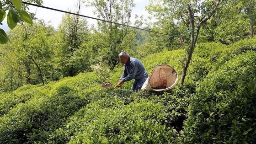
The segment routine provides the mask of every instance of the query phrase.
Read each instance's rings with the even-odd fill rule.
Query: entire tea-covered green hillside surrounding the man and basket
[[[184,50],[140,60],[150,73]],[[252,144],[256,141],[256,37],[229,46],[198,43],[182,88],[132,92],[123,66],[0,93],[1,144]],[[105,76],[104,76],[105,75]],[[105,77],[109,78],[105,79]]]

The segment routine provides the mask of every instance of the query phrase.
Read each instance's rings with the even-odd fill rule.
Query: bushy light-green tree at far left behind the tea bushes
[[[12,84],[13,79],[19,81],[14,83],[14,88],[23,84],[45,83],[48,61],[52,59],[53,53],[49,37],[54,32],[54,28],[44,21],[35,22],[32,26],[17,25],[16,29],[9,32],[12,42],[3,45],[1,51],[5,68],[3,73],[7,78],[8,74],[13,75],[9,83]]]

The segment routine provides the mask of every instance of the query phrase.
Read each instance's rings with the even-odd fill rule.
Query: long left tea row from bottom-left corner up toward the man
[[[17,104],[0,117],[0,143],[47,141],[49,134],[89,103],[89,98],[81,93],[94,91],[100,82],[97,77],[91,78],[90,75],[94,74],[64,78],[43,86],[43,91],[30,89],[35,92],[30,100]],[[90,77],[90,82],[86,77]]]

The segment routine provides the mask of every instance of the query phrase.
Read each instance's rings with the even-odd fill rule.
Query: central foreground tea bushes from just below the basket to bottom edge
[[[150,93],[106,89],[57,129],[48,143],[173,143],[186,118],[187,92]],[[179,95],[176,95],[179,94]],[[175,96],[176,95],[176,96]],[[184,99],[186,99],[184,101]]]

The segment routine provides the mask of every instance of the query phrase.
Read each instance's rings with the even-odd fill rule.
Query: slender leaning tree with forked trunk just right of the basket
[[[192,58],[192,53],[197,43],[197,37],[203,25],[215,14],[216,9],[221,0],[163,0],[162,5],[169,9],[174,9],[171,17],[175,18],[174,21],[181,21],[179,28],[186,27],[190,31],[190,44],[187,51],[187,58],[183,64],[180,85],[184,84],[187,75],[187,68]]]

